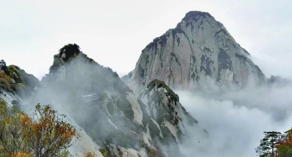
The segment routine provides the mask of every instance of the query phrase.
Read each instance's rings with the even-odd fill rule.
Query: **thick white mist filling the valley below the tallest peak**
[[[176,90],[182,106],[209,133],[203,138],[193,132],[180,149],[187,156],[256,156],[263,132],[292,127],[291,91],[291,85],[249,86],[224,93]]]

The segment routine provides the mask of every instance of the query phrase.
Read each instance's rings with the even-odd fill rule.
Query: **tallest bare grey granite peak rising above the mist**
[[[193,88],[208,78],[228,87],[262,84],[266,77],[222,23],[206,12],[191,11],[175,29],[148,44],[123,81],[140,94],[154,79],[170,88]]]

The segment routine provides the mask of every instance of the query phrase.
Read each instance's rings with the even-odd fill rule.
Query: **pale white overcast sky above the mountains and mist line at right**
[[[76,43],[121,77],[149,42],[193,10],[222,22],[267,77],[292,78],[291,0],[0,0],[0,59],[41,79],[53,55]]]

